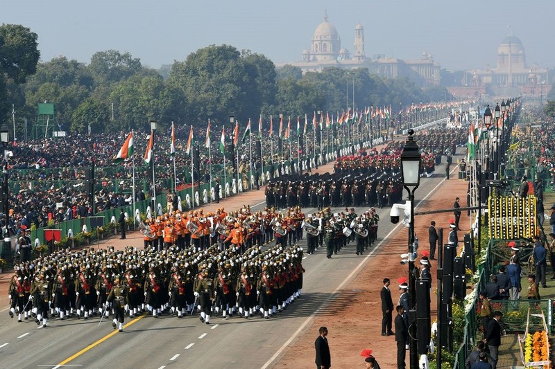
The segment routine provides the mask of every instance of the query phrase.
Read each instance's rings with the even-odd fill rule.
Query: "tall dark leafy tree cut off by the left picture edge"
[[[21,25],[0,26],[0,119],[9,111],[8,80],[22,84],[37,70],[40,58],[37,38],[30,28]]]

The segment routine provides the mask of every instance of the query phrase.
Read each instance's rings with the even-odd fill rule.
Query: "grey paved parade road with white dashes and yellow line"
[[[436,173],[442,170],[443,165],[436,168]],[[438,174],[422,179],[417,204],[441,181],[443,177]],[[251,206],[253,212],[262,208],[264,204]],[[303,209],[306,214],[314,210]],[[332,208],[332,213],[340,210]],[[368,209],[355,208],[355,213],[365,210]],[[99,326],[98,316],[88,321],[56,318],[46,328],[37,327],[32,319],[17,323],[17,318],[10,319],[4,306],[0,312],[0,367],[273,368],[287,346],[295,344],[297,334],[311,322],[312,316],[328,314],[332,319],[342,305],[339,298],[334,298],[334,292],[354,278],[373,253],[384,246],[382,240],[394,225],[389,220],[389,208],[377,210],[378,246],[357,256],[353,242],[331,260],[325,258],[322,248],[313,255],[305,252],[302,296],[269,320],[234,316],[223,321],[218,316],[206,325],[196,314],[182,319],[168,315],[139,316],[133,320],[126,318],[125,330],[119,333],[112,330],[111,318],[105,318]],[[400,224],[395,228],[399,229]],[[142,247],[142,240],[137,243],[140,244],[134,246]],[[306,251],[306,240],[300,246]],[[314,352],[307,355],[313,356]]]

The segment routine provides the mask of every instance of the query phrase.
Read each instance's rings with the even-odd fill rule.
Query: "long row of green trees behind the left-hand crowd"
[[[56,121],[73,134],[162,127],[225,124],[284,113],[390,107],[394,114],[411,103],[444,100],[444,87],[422,90],[407,78],[387,79],[368,69],[336,67],[305,73],[295,66],[276,69],[261,54],[230,45],[210,45],[156,70],[130,53],[109,50],[88,64],[61,56],[39,62],[37,35],[18,25],[0,26],[0,116],[18,136],[37,118],[37,104],[56,104]],[[354,91],[354,98],[353,98]],[[354,105],[352,100],[354,99]]]

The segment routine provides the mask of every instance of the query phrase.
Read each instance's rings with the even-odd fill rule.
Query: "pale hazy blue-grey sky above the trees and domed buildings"
[[[528,66],[555,66],[554,0],[1,0],[0,23],[37,33],[43,62],[65,55],[88,64],[114,49],[159,68],[210,44],[298,61],[325,10],[351,52],[355,26],[364,26],[367,57],[427,51],[445,69],[481,69],[495,66],[512,30]]]

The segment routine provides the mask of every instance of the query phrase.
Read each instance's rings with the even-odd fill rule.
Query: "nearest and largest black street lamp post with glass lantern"
[[[411,312],[415,314],[416,309],[416,276],[414,268],[414,260],[416,259],[416,237],[414,235],[414,192],[420,185],[420,151],[418,144],[413,138],[414,131],[409,129],[409,137],[404,143],[401,153],[401,174],[403,179],[403,187],[409,192],[410,201],[410,223],[409,223],[409,296],[411,300]],[[410,318],[409,318],[410,320]],[[418,368],[418,352],[416,341],[416,322],[409,325],[409,368]]]

